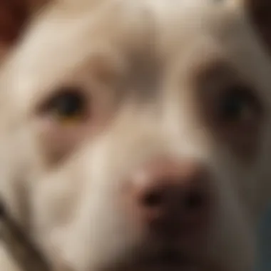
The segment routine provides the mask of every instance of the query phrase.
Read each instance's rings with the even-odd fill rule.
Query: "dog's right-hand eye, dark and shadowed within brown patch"
[[[226,91],[218,106],[220,119],[227,123],[249,121],[257,113],[257,101],[246,88],[234,87]]]

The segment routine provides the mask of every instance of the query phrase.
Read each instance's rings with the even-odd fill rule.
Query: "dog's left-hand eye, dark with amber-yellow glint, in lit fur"
[[[82,121],[87,114],[86,97],[78,88],[65,88],[46,103],[45,110],[61,123]]]

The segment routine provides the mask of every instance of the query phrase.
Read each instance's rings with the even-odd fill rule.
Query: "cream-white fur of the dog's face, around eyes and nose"
[[[79,1],[76,9],[70,1],[59,1],[44,11],[1,71],[0,192],[9,211],[53,265],[110,270],[145,243],[142,223],[123,210],[127,176],[156,155],[196,158],[209,165],[218,195],[213,234],[196,249],[204,265],[216,270],[198,268],[248,270],[257,218],[271,190],[271,63],[242,6],[190,0],[104,0],[96,5],[81,0],[81,6]],[[97,54],[115,59],[121,76],[143,76],[129,70],[131,52],[161,61],[158,86],[97,91],[100,85],[88,73],[91,59]],[[250,165],[202,129],[190,97],[188,72],[217,56],[250,78],[267,104],[267,121]],[[41,138],[48,134],[34,108],[58,86],[73,82],[96,93],[98,107],[107,108],[100,112],[103,131],[95,128],[88,134],[78,128],[81,144],[60,166],[47,165]],[[133,91],[156,94],[140,103],[129,96]],[[112,104],[117,95],[123,95],[121,105]]]

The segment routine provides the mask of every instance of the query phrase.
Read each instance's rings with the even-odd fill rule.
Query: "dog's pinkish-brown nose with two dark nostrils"
[[[140,215],[151,230],[181,235],[198,230],[210,214],[209,173],[197,162],[158,160],[133,178]]]

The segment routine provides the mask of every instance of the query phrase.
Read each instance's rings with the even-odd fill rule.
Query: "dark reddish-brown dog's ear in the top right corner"
[[[250,21],[271,53],[271,0],[242,0]]]

